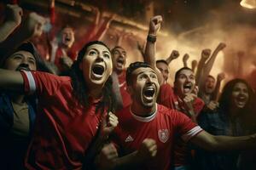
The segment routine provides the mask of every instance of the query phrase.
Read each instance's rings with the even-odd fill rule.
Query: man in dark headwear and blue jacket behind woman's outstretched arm
[[[32,42],[24,42],[0,62],[0,68],[11,71],[46,71]],[[15,91],[0,91],[0,167],[23,169],[23,158],[32,134],[36,116],[36,99]]]

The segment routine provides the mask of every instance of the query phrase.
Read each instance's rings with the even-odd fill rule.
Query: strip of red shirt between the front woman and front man
[[[120,94],[122,95],[124,108],[131,104],[131,96],[127,92],[127,84],[126,84],[125,77],[126,77],[126,71],[124,70],[122,74],[119,75],[119,89],[120,89]]]

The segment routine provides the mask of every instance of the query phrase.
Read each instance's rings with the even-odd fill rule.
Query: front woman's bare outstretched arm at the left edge
[[[23,77],[20,71],[0,69],[0,89],[24,92]]]

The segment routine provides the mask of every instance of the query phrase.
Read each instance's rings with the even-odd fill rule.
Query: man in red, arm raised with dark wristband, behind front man
[[[170,109],[181,111],[180,113],[189,116],[193,122],[196,122],[196,116],[199,115],[204,107],[204,102],[193,94],[195,89],[194,72],[188,67],[179,69],[175,74],[174,88],[172,88],[169,83],[164,83],[164,77],[155,64],[155,42],[161,22],[161,16],[155,16],[149,22],[149,31],[145,50],[146,57],[144,58],[145,61],[154,68],[154,71],[156,71],[159,77],[160,94],[158,103],[160,105],[165,105]],[[187,144],[185,144],[182,139],[177,138],[177,143],[174,148],[175,167],[177,167],[177,169],[188,169],[187,167],[189,167],[189,160],[191,156]]]

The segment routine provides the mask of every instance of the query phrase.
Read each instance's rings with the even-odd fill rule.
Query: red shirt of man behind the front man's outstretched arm
[[[178,102],[178,97],[174,93],[172,86],[169,83],[165,83],[160,86],[160,94],[158,103],[160,105],[165,105],[170,109],[175,109],[177,111],[183,111],[183,104]],[[204,102],[200,98],[196,98],[193,104],[195,116],[198,116],[201,110],[204,107]],[[177,139],[177,143],[174,147],[175,154],[174,154],[174,164],[176,167],[188,165],[189,158],[190,158],[190,150],[186,143],[183,142],[182,139]]]

